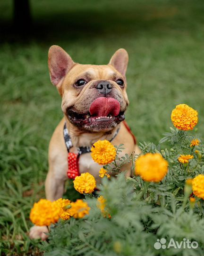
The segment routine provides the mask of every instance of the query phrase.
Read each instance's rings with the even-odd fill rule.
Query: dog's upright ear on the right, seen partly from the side
[[[128,53],[125,49],[118,49],[114,55],[112,55],[109,64],[114,66],[123,76],[126,74],[128,64]]]

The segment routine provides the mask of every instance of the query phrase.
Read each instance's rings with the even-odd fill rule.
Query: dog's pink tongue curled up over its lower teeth
[[[120,104],[113,98],[99,97],[92,102],[89,112],[95,117],[118,116]]]

